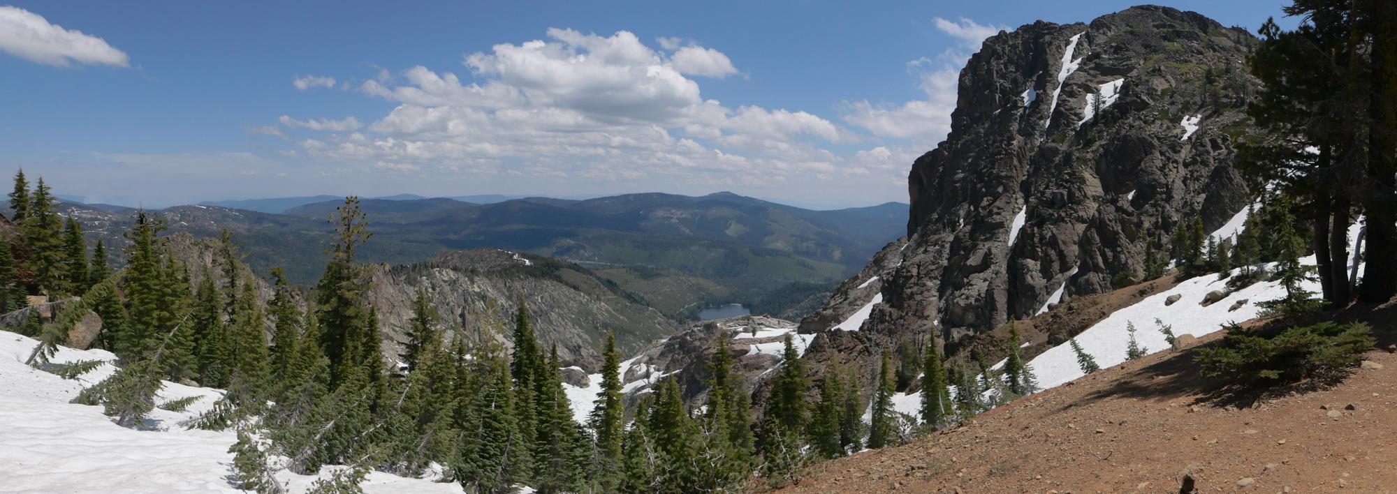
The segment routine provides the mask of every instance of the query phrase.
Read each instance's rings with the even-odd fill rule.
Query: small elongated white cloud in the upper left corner
[[[126,52],[102,38],[64,29],[42,15],[8,6],[0,6],[0,50],[56,67],[73,63],[130,67]]]

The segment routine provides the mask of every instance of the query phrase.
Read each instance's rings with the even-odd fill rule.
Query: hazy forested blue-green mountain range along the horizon
[[[813,211],[731,193],[499,198],[504,197],[362,200],[374,236],[360,257],[409,264],[443,250],[497,247],[576,262],[680,320],[705,304],[729,301],[778,313],[856,272],[905,232],[908,214],[908,205],[898,202]],[[331,237],[326,218],[342,202],[310,195],[229,202],[243,208],[180,205],[161,214],[170,233],[211,237],[229,229],[254,269],[281,265],[293,283],[310,285],[320,276]],[[63,205],[94,240],[124,246],[131,208]]]

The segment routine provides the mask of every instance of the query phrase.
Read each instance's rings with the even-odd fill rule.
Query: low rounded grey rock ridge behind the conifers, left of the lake
[[[489,328],[504,345],[510,345],[514,313],[524,300],[545,347],[557,345],[566,364],[587,371],[599,367],[608,329],[616,332],[616,345],[626,354],[679,331],[638,297],[570,262],[497,248],[447,251],[423,264],[380,265],[372,286],[367,300],[379,311],[390,359],[407,340],[418,290],[432,299],[446,328]]]

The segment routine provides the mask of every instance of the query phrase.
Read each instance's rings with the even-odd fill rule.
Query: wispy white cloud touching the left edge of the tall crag
[[[970,59],[971,50],[978,50],[985,38],[1006,28],[978,24],[968,18],[951,22],[937,17],[933,21],[939,31],[956,39],[958,45],[943,52],[937,60],[921,57],[907,63],[907,73],[916,78],[923,98],[902,103],[845,102],[844,121],[877,137],[907,138],[928,147],[950,133],[961,67]]]

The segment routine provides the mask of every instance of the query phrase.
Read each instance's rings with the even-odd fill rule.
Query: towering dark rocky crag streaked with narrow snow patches
[[[900,262],[876,257],[802,331],[872,300],[851,286],[877,274],[865,332],[939,327],[954,342],[1111,290],[1180,222],[1220,227],[1252,198],[1232,167],[1252,46],[1239,28],[1148,6],[986,39],[961,71],[950,135],[908,174]]]

